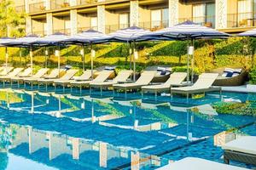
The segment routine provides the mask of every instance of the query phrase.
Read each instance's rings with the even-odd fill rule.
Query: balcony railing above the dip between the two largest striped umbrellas
[[[139,27],[150,30],[150,31],[157,31],[162,28],[166,28],[169,26],[169,21],[168,20],[154,20],[154,21],[149,21],[149,22],[140,22]]]

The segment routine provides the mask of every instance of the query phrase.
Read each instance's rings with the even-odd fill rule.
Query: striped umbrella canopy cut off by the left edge
[[[18,39],[13,39],[12,41],[3,42],[4,46],[8,47],[30,47],[32,43],[38,40],[37,35],[28,35],[26,37],[20,37]]]

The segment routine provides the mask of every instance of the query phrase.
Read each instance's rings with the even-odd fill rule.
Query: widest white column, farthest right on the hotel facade
[[[216,0],[216,28],[227,28],[228,20],[228,0]]]

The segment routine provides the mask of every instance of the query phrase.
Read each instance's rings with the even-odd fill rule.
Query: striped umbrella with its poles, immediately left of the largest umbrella
[[[111,33],[110,35],[113,37],[113,42],[127,42],[130,46],[130,69],[131,69],[131,43],[133,42],[135,46],[135,42],[143,42],[147,40],[151,40],[151,37],[143,37],[145,35],[149,35],[151,31],[144,30],[143,28],[137,27],[137,26],[131,26],[119,31],[115,31]],[[132,48],[132,51],[134,51],[134,48]],[[133,81],[136,80],[136,61],[135,56],[133,58]]]

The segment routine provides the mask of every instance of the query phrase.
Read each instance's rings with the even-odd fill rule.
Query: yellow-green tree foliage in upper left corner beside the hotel
[[[25,35],[26,14],[15,10],[14,3],[0,3],[0,37],[22,37]]]

